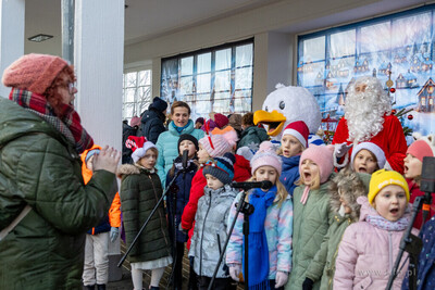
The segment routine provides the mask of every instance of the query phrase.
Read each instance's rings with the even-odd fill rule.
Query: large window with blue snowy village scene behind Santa
[[[334,117],[344,114],[349,84],[376,76],[395,109],[414,110],[412,117],[400,119],[402,126],[433,133],[435,115],[425,97],[433,84],[434,28],[435,5],[426,5],[299,36],[298,86],[316,97],[323,117]],[[386,85],[389,79],[394,89]]]

